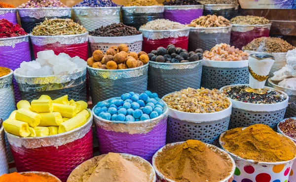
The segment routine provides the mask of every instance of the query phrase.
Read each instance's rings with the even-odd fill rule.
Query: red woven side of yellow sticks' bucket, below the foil
[[[82,162],[93,156],[92,129],[84,137],[59,147],[37,149],[19,148],[11,145],[18,172],[42,171],[53,174],[67,182],[70,173]]]

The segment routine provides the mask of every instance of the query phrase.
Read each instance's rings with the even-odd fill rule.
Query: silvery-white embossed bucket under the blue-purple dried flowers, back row
[[[73,7],[74,21],[87,31],[120,23],[120,7]]]

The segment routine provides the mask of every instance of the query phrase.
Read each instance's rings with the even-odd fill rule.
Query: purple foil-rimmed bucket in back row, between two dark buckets
[[[163,16],[174,22],[190,24],[192,20],[202,16],[202,13],[203,5],[164,6]]]

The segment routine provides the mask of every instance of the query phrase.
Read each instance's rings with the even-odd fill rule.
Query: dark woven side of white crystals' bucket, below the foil
[[[22,100],[32,100],[38,99],[41,95],[48,95],[51,99],[59,98],[63,95],[68,95],[68,99],[71,100],[83,100],[86,102],[86,82],[82,84],[68,88],[53,91],[20,91]]]

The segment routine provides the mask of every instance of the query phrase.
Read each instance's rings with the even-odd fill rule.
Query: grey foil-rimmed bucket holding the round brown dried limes
[[[128,69],[100,69],[87,66],[93,105],[122,93],[147,91],[148,64]]]

